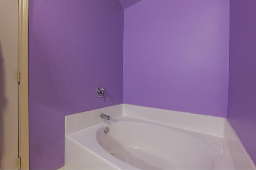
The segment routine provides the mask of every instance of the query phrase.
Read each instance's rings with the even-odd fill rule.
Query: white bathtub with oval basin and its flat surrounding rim
[[[104,133],[106,127],[109,128],[107,134]],[[221,143],[220,137],[125,116],[68,137],[115,169],[235,168],[228,148],[212,145]]]

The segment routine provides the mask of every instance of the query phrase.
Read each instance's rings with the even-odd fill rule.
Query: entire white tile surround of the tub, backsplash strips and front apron
[[[70,133],[75,134],[74,132],[76,131],[93,128],[93,125],[103,122],[103,119],[100,118],[101,113],[110,115],[112,118],[124,115],[224,138],[236,169],[256,169],[252,159],[226,118],[128,104],[105,107],[65,117],[66,169],[115,169],[114,164],[108,164],[100,155],[94,154],[90,149],[83,147],[80,143],[68,137]],[[96,135],[91,134],[91,136]]]

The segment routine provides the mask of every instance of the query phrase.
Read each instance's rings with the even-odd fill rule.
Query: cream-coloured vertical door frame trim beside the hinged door
[[[28,0],[19,0],[18,12],[18,117],[20,168],[29,169],[28,133]]]

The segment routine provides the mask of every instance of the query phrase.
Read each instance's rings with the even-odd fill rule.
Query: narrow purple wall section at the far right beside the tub
[[[256,1],[230,1],[228,120],[256,162]]]

